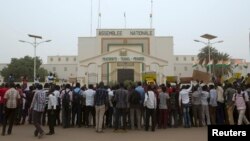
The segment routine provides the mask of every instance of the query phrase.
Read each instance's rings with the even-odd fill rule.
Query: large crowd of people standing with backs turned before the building
[[[137,82],[105,86],[36,83],[27,86],[5,83],[0,87],[0,125],[2,135],[12,133],[13,125],[33,124],[34,135],[55,134],[62,128],[95,127],[114,132],[177,127],[203,127],[211,124],[242,125],[250,120],[250,84],[188,85]],[[43,126],[49,126],[45,133]]]

